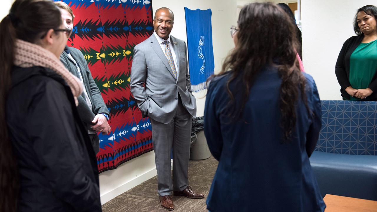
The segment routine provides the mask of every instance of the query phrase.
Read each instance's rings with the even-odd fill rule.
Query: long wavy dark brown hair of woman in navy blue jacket
[[[297,39],[294,26],[288,15],[271,3],[251,3],[241,9],[238,17],[238,43],[225,58],[218,75],[230,74],[226,88],[230,97],[226,114],[230,120],[241,118],[248,101],[254,80],[266,65],[277,66],[282,79],[279,108],[280,126],[284,130],[284,141],[291,138],[296,124],[296,103],[299,95],[307,105],[306,79],[296,60]],[[241,104],[235,104],[229,84],[241,79]],[[239,106],[238,106],[239,105]],[[308,108],[307,108],[308,109]]]

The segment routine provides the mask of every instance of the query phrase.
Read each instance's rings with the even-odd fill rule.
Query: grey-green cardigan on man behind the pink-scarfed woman
[[[86,92],[89,96],[90,101],[92,102],[92,108],[89,108],[85,100],[84,92],[77,98],[78,114],[80,114],[80,118],[85,123],[85,126],[88,127],[88,125],[92,125],[92,120],[95,115],[100,113],[106,113],[107,115],[109,115],[109,109],[107,109],[107,106],[103,101],[100,89],[98,89],[97,84],[95,84],[95,81],[93,80],[92,73],[90,73],[83,53],[81,53],[81,51],[76,48],[68,47],[68,49],[71,56],[78,64],[78,67],[80,67]],[[63,53],[61,53],[60,61],[68,69],[69,72],[80,78],[74,61],[72,61],[68,57],[66,52],[63,51]]]

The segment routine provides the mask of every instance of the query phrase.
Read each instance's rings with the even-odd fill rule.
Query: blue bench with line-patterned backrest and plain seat
[[[310,163],[321,195],[377,200],[377,102],[322,102],[322,129]]]

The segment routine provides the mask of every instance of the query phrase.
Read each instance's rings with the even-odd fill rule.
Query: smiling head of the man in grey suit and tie
[[[156,34],[166,40],[173,29],[173,15],[167,9],[156,11],[155,19],[153,19],[153,27]]]

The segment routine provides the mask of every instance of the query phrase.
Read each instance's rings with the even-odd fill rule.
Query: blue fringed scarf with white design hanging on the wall
[[[211,15],[211,9],[191,10],[185,7],[190,79],[194,92],[206,89],[205,81],[215,69]]]

